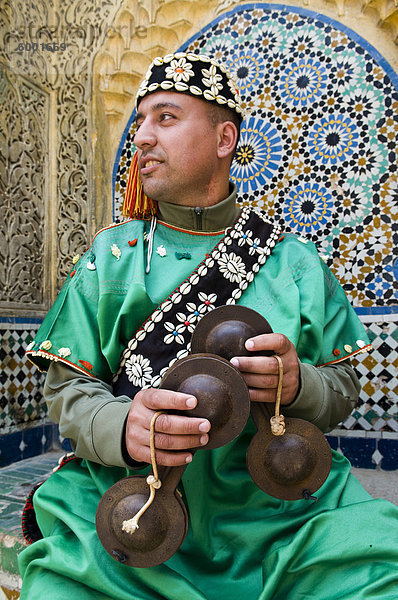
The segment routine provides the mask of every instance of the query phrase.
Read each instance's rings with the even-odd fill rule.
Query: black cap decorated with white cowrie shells
[[[234,80],[223,65],[205,54],[176,52],[155,58],[137,92],[137,108],[145,96],[161,91],[201,98],[229,108],[243,119]]]

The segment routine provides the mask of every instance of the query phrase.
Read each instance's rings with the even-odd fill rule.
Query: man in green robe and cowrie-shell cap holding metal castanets
[[[21,554],[23,600],[397,597],[397,509],[372,500],[348,461],[334,453],[317,502],[278,500],[246,469],[250,419],[233,442],[206,450],[209,420],[188,416],[196,398],[158,389],[200,318],[237,302],[276,332],[246,348],[282,360],[285,416],[327,431],[357,400],[349,356],[367,345],[341,287],[312,244],[235,203],[228,175],[240,120],[233,82],[204,56],[155,59],[140,87],[137,165],[156,217],[97,234],[28,351],[48,369],[49,414],[79,459],[35,494],[44,537]],[[275,402],[275,357],[231,362],[252,402]],[[111,485],[151,462],[157,411],[166,411],[157,463],[191,463],[180,486],[189,529],[170,560],[140,569],[105,552],[95,512]]]

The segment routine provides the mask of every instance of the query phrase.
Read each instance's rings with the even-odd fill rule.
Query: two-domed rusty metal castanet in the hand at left
[[[201,448],[217,448],[232,441],[249,417],[246,383],[239,371],[219,356],[191,355],[176,361],[160,387],[197,398],[195,409],[181,414],[208,418],[211,422],[209,442]],[[160,485],[155,491],[151,489],[153,498],[147,508],[148,486],[152,484],[142,475],[121,479],[103,495],[97,508],[96,528],[102,545],[113,558],[131,567],[152,567],[178,550],[188,529],[187,511],[177,489],[186,466],[159,467],[155,483]],[[154,472],[155,467],[156,464]],[[132,527],[137,514],[139,524],[136,521]]]

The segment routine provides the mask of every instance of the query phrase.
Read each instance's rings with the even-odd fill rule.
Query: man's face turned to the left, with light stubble
[[[144,98],[136,116],[138,167],[157,201],[206,205],[217,168],[217,127],[204,100],[177,92]]]

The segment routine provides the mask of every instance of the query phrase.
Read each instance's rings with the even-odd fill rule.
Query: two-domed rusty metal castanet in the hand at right
[[[264,333],[272,333],[272,328],[256,311],[240,305],[221,306],[198,323],[191,347],[194,352],[212,352],[228,360],[233,356],[270,356],[272,352],[254,353],[245,348],[249,337]],[[267,404],[252,402],[251,415],[257,433],[246,462],[255,484],[281,500],[313,497],[327,479],[332,462],[329,443],[320,429],[303,419],[287,418],[284,433],[274,435]]]

